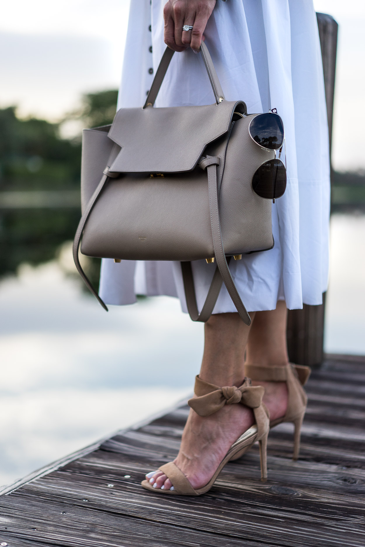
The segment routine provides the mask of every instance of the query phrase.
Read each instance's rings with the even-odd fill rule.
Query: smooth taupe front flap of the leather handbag
[[[121,108],[109,138],[121,150],[114,172],[167,173],[191,171],[208,143],[228,131],[241,101],[206,106]]]

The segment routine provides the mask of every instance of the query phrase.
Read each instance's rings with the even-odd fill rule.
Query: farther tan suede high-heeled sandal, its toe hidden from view
[[[311,373],[309,366],[254,366],[245,365],[245,374],[250,375],[255,382],[286,382],[288,389],[288,405],[285,416],[270,421],[270,429],[279,423],[294,424],[293,459],[298,459],[300,449],[300,429],[306,410],[308,397],[303,389]],[[243,452],[242,452],[243,453]],[[239,457],[239,456],[236,456]]]

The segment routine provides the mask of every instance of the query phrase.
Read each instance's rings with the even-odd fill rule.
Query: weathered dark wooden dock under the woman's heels
[[[307,385],[300,459],[291,424],[223,469],[200,497],[142,490],[173,459],[185,404],[41,470],[0,497],[0,545],[364,547],[365,357],[327,356]]]

